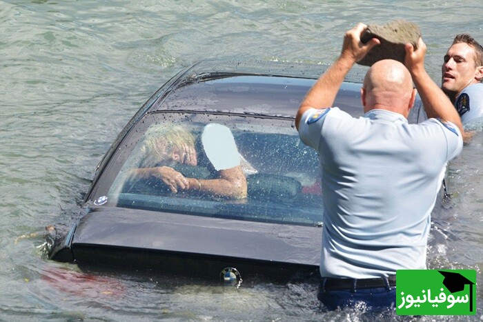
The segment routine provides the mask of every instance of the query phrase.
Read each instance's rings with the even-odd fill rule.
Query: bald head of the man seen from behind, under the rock
[[[364,112],[379,108],[407,117],[414,99],[411,74],[402,63],[384,59],[369,68],[362,88]]]

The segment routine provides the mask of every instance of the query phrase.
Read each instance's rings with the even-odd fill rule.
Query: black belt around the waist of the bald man
[[[333,279],[323,277],[320,288],[325,291],[357,290],[363,288],[390,288],[396,285],[396,276],[376,277],[375,279]]]

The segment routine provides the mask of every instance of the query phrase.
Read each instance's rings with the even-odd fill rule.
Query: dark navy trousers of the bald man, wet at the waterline
[[[375,287],[373,287],[375,286]],[[320,283],[317,298],[328,310],[365,305],[368,310],[395,308],[395,279],[328,279]]]

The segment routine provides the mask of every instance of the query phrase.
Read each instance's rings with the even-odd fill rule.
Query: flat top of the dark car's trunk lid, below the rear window
[[[248,261],[319,265],[322,228],[188,214],[97,208],[84,216],[71,248],[221,256]]]

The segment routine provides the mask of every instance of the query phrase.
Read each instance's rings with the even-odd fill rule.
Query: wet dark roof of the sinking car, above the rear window
[[[253,66],[229,69],[214,68],[206,61],[198,63],[177,75],[145,112],[222,112],[295,118],[306,92],[325,68],[301,65],[282,69],[266,65],[266,72],[255,72]],[[354,117],[362,115],[361,81],[360,74],[351,74],[335,101]]]

